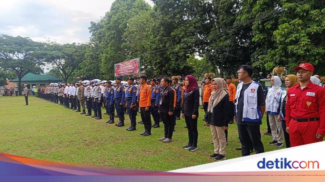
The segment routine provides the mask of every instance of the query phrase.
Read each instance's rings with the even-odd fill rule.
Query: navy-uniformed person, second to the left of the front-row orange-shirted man
[[[114,92],[114,102],[119,122],[124,123],[124,109],[120,103],[125,104],[125,92],[122,85],[117,85]]]

